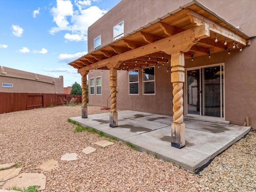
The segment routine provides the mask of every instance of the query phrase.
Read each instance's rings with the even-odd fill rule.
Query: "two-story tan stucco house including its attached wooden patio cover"
[[[89,53],[69,64],[83,93],[88,74],[90,105],[111,94],[110,126],[118,108],[171,115],[178,148],[183,116],[239,125],[249,116],[256,128],[254,10],[252,0],[122,0],[88,28]]]

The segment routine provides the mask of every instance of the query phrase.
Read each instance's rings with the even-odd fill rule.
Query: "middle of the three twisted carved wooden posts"
[[[118,126],[118,114],[116,112],[116,87],[117,87],[117,70],[116,68],[110,68],[109,71],[109,86],[111,88],[111,101],[110,101],[110,127]]]

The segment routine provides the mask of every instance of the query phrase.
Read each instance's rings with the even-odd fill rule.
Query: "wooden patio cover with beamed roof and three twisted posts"
[[[110,127],[116,127],[117,70],[168,63],[173,86],[172,146],[181,148],[185,146],[184,59],[233,49],[234,45],[235,48],[250,45],[250,37],[197,1],[180,7],[69,63],[82,76],[82,118],[87,118],[86,75],[90,70],[110,70]]]

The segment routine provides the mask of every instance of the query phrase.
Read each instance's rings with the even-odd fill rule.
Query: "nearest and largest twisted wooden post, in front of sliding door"
[[[183,122],[183,83],[184,53],[172,54],[171,57],[171,82],[173,86],[173,123],[172,123],[172,147],[182,148],[185,146],[185,124]]]

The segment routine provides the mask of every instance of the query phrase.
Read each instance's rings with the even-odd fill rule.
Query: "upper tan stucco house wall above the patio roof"
[[[124,35],[188,4],[192,0],[122,0],[88,28],[88,52],[101,35],[101,46],[113,41],[113,27],[124,21]],[[198,0],[249,36],[256,35],[254,0]]]

